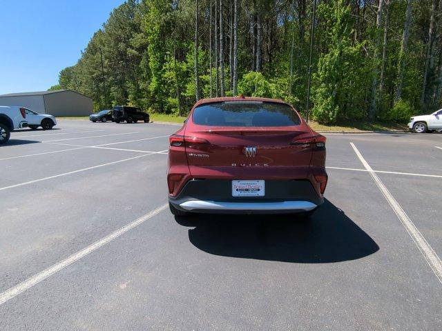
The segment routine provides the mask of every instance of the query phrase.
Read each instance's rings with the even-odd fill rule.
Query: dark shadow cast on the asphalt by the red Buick
[[[361,259],[379,246],[345,212],[326,200],[310,219],[292,215],[175,217],[195,247],[210,254],[283,261],[332,263]]]

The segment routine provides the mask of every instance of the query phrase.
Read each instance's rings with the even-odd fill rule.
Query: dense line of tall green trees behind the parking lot
[[[282,98],[311,117],[404,121],[440,106],[442,0],[128,0],[59,85],[186,114],[195,99]]]

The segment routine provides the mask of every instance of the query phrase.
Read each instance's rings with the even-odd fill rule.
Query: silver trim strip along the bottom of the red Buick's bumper
[[[309,201],[282,202],[220,202],[191,200],[180,203],[184,210],[299,210],[308,212],[317,205]]]

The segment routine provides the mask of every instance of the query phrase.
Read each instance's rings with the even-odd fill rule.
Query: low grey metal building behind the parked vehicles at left
[[[71,90],[2,94],[0,106],[23,106],[55,117],[86,116],[93,113],[92,98]]]

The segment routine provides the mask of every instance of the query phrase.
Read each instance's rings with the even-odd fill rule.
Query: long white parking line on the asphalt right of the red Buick
[[[350,143],[352,146],[354,152],[358,156],[359,160],[361,160],[361,163],[364,165],[365,169],[369,172],[369,174],[372,176],[374,182],[378,186],[379,190],[381,190],[383,196],[385,199],[387,199],[388,203],[390,203],[390,206],[396,213],[396,216],[401,221],[403,227],[405,230],[407,230],[408,234],[410,234],[410,237],[412,237],[414,243],[419,248],[421,253],[423,254],[423,257],[427,261],[428,265],[432,268],[434,274],[439,279],[439,281],[442,283],[442,261],[439,258],[439,256],[434,252],[431,245],[427,242],[427,240],[423,237],[421,232],[416,228],[416,225],[412,222],[410,217],[404,212],[401,205],[399,205],[398,201],[394,199],[390,191],[387,189],[387,187],[384,185],[384,183],[381,181],[381,179],[378,177],[376,172],[370,167],[370,165],[365,161],[364,157],[362,156],[361,152],[359,152],[358,148],[354,145],[354,143]]]

